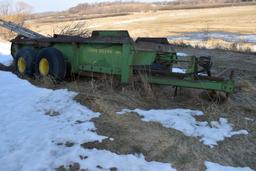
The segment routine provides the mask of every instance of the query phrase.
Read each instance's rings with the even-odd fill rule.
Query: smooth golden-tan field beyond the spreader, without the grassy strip
[[[255,15],[256,6],[170,10],[89,19],[86,20],[85,27],[90,30],[125,29],[132,37],[166,37],[182,32],[200,31],[254,34],[256,32]],[[30,25],[35,31],[52,34],[54,30],[57,33],[58,27],[72,22],[40,23],[40,20],[31,20]]]

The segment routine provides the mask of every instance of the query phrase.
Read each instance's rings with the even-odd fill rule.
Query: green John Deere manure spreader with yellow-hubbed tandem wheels
[[[18,33],[11,40],[11,54],[20,75],[51,76],[64,80],[68,74],[115,75],[121,83],[142,75],[148,83],[234,92],[234,81],[211,75],[211,58],[179,57],[166,38],[138,38],[127,31],[93,31],[91,37],[46,37],[12,22],[0,26]],[[186,66],[176,72],[177,66]]]

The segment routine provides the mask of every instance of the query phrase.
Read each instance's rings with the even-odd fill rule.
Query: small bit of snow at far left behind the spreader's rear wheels
[[[0,42],[0,63],[6,66],[12,64],[12,56],[10,55],[11,43]]]

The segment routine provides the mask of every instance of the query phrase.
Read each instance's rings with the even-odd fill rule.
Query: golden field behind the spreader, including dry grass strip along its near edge
[[[68,14],[63,14],[62,18],[65,18],[65,15]],[[50,15],[39,20],[32,19],[27,23],[33,30],[45,35],[58,34],[63,27],[76,23],[84,23],[84,27],[89,31],[128,30],[133,38],[182,36],[184,33],[203,33],[207,36],[208,33],[215,32],[222,34],[220,38],[209,36],[205,39],[204,36],[203,41],[198,41],[194,39],[172,40],[170,37],[170,43],[256,52],[256,5],[120,13],[115,14],[114,17],[106,15],[102,18],[100,16],[102,15],[85,15],[84,18],[88,19],[81,19],[83,18],[81,15],[73,15],[72,21],[63,22],[59,17]],[[229,33],[236,34],[235,41],[223,39],[229,36]],[[253,37],[253,43],[244,39],[248,34]],[[251,37],[249,40],[252,39]]]

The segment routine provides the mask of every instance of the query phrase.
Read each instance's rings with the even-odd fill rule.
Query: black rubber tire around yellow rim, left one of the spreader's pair
[[[25,47],[18,50],[14,57],[15,70],[20,75],[31,76],[34,74],[36,50],[31,47]],[[24,68],[20,69],[20,61],[25,62]]]

